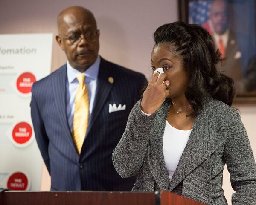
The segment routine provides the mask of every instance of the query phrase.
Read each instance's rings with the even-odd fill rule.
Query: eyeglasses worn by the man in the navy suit
[[[99,30],[97,30],[96,32],[88,31],[88,32],[86,32],[86,33],[84,33],[84,34],[72,34],[72,35],[70,35],[70,36],[62,36],[62,35],[59,35],[59,36],[61,36],[61,37],[64,38],[64,39],[69,40],[71,44],[77,45],[78,43],[81,42],[82,36],[84,36],[84,38],[85,38],[89,43],[93,43],[93,42],[96,41],[98,35],[99,35]]]

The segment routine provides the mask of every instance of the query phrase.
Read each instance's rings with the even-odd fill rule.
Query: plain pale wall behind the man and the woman
[[[152,34],[164,24],[178,20],[176,0],[1,0],[0,33],[57,34],[58,13],[73,5],[90,9],[100,29],[100,55],[122,66],[150,76],[150,53],[153,46]],[[38,39],[40,40],[40,39]],[[52,70],[66,61],[64,53],[53,45]],[[35,68],[36,69],[36,68]],[[256,105],[236,105],[247,129],[256,156]],[[49,190],[49,176],[43,172],[42,190]],[[224,172],[224,191],[229,204],[233,192]]]

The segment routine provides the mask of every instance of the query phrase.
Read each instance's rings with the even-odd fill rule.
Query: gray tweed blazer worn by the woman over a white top
[[[125,133],[112,154],[122,177],[137,175],[133,191],[166,190],[208,205],[227,205],[222,189],[227,163],[236,193],[233,205],[256,204],[256,165],[237,111],[206,98],[196,117],[177,169],[170,180],[163,158],[163,133],[171,101],[150,116],[134,105]]]

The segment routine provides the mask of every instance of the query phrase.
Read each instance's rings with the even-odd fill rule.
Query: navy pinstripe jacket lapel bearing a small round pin
[[[111,68],[108,67],[108,62],[101,58],[99,66],[99,75],[97,79],[97,88],[96,88],[96,97],[93,104],[93,111],[91,118],[89,120],[89,125],[87,128],[86,136],[90,132],[91,127],[93,126],[94,121],[99,115],[100,110],[102,110],[103,105],[108,97],[111,88],[114,83],[108,81],[109,77],[115,79],[114,73],[111,71]]]

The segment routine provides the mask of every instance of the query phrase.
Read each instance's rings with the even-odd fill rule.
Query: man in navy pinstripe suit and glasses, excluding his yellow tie
[[[79,6],[58,15],[56,40],[67,63],[32,87],[35,137],[51,175],[51,190],[131,191],[134,178],[122,179],[111,154],[140,98],[145,76],[98,55],[99,30],[93,14]],[[73,141],[76,76],[85,75],[89,123],[81,153]]]

